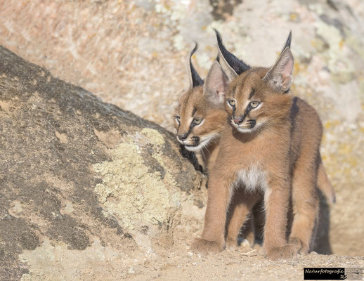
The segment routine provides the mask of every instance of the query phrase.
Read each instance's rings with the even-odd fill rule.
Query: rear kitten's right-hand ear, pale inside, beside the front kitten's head
[[[218,61],[215,60],[204,82],[204,95],[207,95],[208,99],[215,105],[221,105],[225,100],[227,89],[228,77]]]

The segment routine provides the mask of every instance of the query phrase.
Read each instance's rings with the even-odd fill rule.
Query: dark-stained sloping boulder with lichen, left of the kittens
[[[188,220],[182,205],[202,207],[202,184],[172,133],[0,47],[1,280],[153,254]]]

